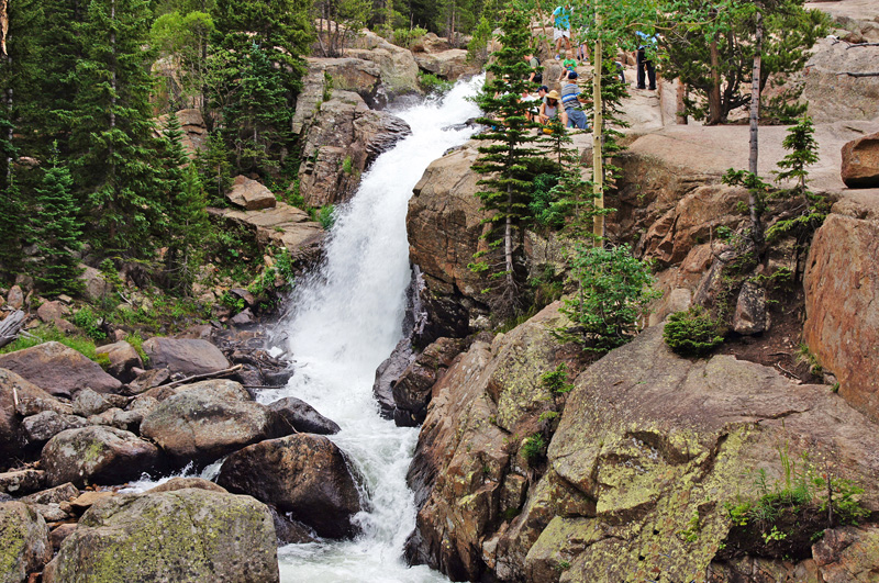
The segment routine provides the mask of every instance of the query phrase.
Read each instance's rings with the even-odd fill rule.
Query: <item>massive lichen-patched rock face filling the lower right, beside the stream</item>
[[[490,572],[541,583],[831,581],[842,563],[865,560],[872,527],[826,530],[786,562],[736,546],[728,507],[758,495],[756,470],[783,480],[782,461],[808,453],[865,487],[876,513],[879,440],[869,419],[827,386],[727,356],[679,358],[660,327],[577,378],[545,466],[530,464],[523,438],[554,403],[539,374],[564,359],[546,332],[557,318],[549,306],[491,345],[476,343],[435,388],[410,472],[422,504],[411,558],[454,580]],[[826,560],[837,536],[849,543]],[[739,578],[755,554],[768,556],[759,561],[772,578]]]

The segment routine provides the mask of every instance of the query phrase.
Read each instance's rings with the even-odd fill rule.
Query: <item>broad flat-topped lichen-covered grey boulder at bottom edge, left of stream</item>
[[[278,580],[268,508],[199,489],[98,502],[43,573],[44,583]]]

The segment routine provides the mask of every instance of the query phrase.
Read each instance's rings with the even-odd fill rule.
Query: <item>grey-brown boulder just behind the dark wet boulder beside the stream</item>
[[[210,463],[245,446],[277,437],[275,414],[251,400],[241,384],[196,383],[162,401],[144,417],[141,435],[178,464]],[[182,388],[181,388],[182,389]]]

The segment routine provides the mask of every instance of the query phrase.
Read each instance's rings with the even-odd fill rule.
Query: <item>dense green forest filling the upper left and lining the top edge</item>
[[[801,67],[802,49],[822,32],[817,12],[797,0],[725,0],[724,10],[676,0],[599,4],[575,7],[577,43],[602,41],[613,55],[636,46],[636,30],[660,33],[667,74],[688,83],[691,113],[710,123],[748,103],[758,14],[766,13],[761,85]],[[346,42],[346,34],[315,42],[324,25],[370,27],[403,46],[430,30],[474,48],[486,45],[502,8],[497,0],[5,2],[0,271],[7,280],[31,273],[47,296],[76,293],[88,255],[94,266],[140,264],[154,283],[188,294],[205,249],[222,237],[205,206],[225,203],[231,177],[290,192],[301,162],[290,127],[303,57],[336,56]],[[514,8],[547,30],[552,7]],[[210,133],[192,165],[167,115],[185,108],[200,110]]]

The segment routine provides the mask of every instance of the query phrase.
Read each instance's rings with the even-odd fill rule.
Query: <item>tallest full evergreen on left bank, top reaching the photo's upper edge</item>
[[[145,0],[91,0],[70,119],[77,187],[108,249],[148,256],[158,220]]]

